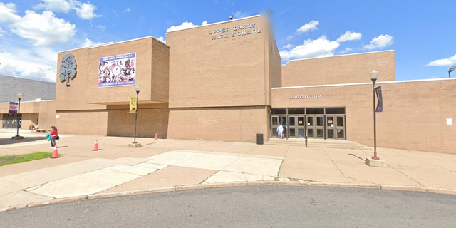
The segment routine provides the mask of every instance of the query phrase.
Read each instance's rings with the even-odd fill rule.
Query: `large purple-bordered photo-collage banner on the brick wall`
[[[136,81],[136,53],[100,58],[98,88],[132,86]]]

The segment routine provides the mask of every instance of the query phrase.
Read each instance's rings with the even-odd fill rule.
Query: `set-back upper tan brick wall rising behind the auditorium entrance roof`
[[[309,58],[289,61],[282,66],[282,86],[315,86],[371,82],[371,71],[379,72],[378,81],[395,81],[395,52]]]

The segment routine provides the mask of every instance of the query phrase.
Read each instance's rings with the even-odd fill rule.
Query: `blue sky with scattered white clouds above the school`
[[[283,64],[290,59],[395,50],[398,81],[447,78],[448,69],[456,66],[454,5],[439,0],[0,0],[0,74],[56,81],[58,51],[145,36],[165,41],[170,29],[271,9]],[[452,73],[456,77],[456,71]]]

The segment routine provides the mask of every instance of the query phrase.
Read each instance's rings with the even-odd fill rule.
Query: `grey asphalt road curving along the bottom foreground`
[[[456,196],[333,187],[229,187],[0,212],[0,227],[456,227]]]

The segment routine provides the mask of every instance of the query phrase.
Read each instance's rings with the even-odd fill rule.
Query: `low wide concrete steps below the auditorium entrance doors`
[[[294,145],[306,147],[305,139],[289,138],[279,139],[279,138],[270,138],[267,142],[264,142],[265,145]],[[317,140],[309,139],[307,142],[307,147],[309,148],[337,148],[337,149],[356,149],[356,150],[369,150],[370,147],[347,140]]]

